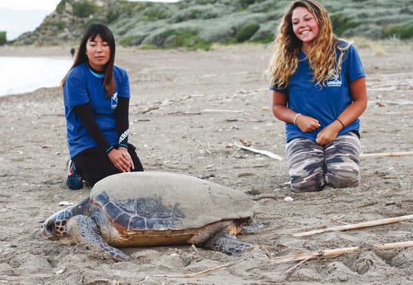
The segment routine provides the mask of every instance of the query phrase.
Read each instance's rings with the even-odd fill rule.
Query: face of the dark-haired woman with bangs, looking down
[[[87,40],[86,55],[90,67],[97,71],[103,71],[110,59],[110,46],[97,34],[94,39],[89,38]]]

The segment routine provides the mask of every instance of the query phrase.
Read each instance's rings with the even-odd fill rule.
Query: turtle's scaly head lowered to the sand
[[[47,240],[61,240],[67,237],[67,222],[72,218],[71,208],[63,209],[50,216],[41,226],[41,235]]]

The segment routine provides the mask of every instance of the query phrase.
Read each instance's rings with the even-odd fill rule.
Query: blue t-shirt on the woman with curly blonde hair
[[[346,43],[340,41],[341,45]],[[337,49],[337,58],[340,50]],[[330,125],[348,105],[352,103],[350,83],[357,78],[365,77],[363,65],[354,45],[350,45],[345,51],[341,63],[341,74],[337,78],[326,81],[326,86],[316,85],[313,78],[313,70],[308,65],[308,59],[304,52],[299,53],[298,68],[293,76],[290,76],[288,86],[278,89],[273,86],[270,89],[288,95],[288,108],[297,113],[311,116],[319,120],[321,127],[311,133],[304,133],[293,123],[286,123],[286,140],[293,138],[309,138],[314,140],[321,129]],[[348,131],[359,131],[359,118],[339,131],[338,135]]]

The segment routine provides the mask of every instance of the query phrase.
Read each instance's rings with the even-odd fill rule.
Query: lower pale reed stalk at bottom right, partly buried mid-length
[[[374,244],[377,249],[404,249],[407,247],[413,247],[413,240],[407,242],[392,242],[390,244]],[[317,251],[314,253],[298,253],[293,255],[284,255],[273,258],[274,263],[282,263],[282,262],[292,262],[292,261],[299,261],[299,260],[310,260],[317,257],[337,257],[343,255],[344,253],[352,253],[357,251],[359,246],[353,247],[344,247],[341,249],[326,249],[324,251]]]

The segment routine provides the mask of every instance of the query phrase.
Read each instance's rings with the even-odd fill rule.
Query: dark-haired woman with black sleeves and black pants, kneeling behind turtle
[[[129,76],[114,60],[112,32],[92,24],[61,82],[70,154],[66,184],[72,190],[83,180],[93,187],[115,173],[143,171],[128,142]]]

